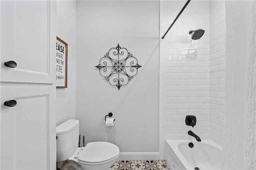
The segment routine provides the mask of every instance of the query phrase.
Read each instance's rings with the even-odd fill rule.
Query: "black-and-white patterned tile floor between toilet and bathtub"
[[[170,170],[166,160],[118,160],[111,170]]]

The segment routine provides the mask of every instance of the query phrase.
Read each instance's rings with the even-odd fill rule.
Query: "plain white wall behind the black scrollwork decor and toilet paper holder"
[[[120,152],[159,151],[159,2],[78,1],[76,118],[86,143],[109,141]],[[117,45],[142,67],[120,90],[95,67]],[[114,127],[105,126],[109,112]]]

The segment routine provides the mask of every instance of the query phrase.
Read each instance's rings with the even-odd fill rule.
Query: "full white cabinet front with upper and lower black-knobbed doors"
[[[1,170],[56,168],[55,46],[55,0],[0,0]]]

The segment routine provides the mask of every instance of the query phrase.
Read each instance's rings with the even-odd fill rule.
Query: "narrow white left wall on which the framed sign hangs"
[[[56,125],[76,118],[76,1],[57,0],[57,36],[68,43],[68,88],[56,89]]]

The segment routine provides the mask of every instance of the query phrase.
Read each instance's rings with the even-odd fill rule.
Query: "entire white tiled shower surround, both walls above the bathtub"
[[[185,3],[160,1],[160,37]],[[160,158],[165,139],[193,139],[188,130],[221,145],[226,25],[223,17],[217,20],[220,15],[225,18],[219,3],[222,1],[191,1],[166,37],[160,39]],[[218,15],[210,10],[218,11]],[[189,31],[196,29],[205,33],[201,39],[192,40]],[[185,124],[186,115],[196,116],[194,128]]]

